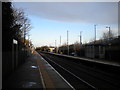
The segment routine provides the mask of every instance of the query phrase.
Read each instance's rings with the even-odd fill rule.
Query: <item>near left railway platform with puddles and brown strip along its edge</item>
[[[3,90],[11,88],[74,89],[35,51],[2,85]]]

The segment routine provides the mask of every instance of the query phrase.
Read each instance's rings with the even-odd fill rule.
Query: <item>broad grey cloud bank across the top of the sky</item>
[[[13,2],[28,14],[61,22],[118,23],[117,2]]]

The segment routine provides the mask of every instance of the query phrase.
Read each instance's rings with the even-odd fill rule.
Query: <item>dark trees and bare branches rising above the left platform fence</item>
[[[30,20],[22,9],[12,7],[11,2],[2,2],[2,43],[3,51],[11,50],[13,39],[22,42],[29,35]]]

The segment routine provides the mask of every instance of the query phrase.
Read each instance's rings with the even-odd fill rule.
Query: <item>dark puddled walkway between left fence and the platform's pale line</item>
[[[5,82],[5,88],[43,88],[39,69],[32,54]]]

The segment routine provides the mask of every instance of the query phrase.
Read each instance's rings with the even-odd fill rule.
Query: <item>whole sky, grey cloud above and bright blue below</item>
[[[55,46],[67,42],[82,43],[94,40],[94,25],[96,38],[103,32],[111,31],[118,34],[118,3],[117,2],[13,2],[13,6],[23,9],[31,21],[30,38],[35,47]]]

